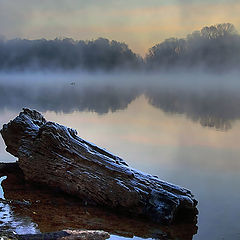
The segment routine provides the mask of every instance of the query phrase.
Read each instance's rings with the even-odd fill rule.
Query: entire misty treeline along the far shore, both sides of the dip
[[[240,35],[230,23],[204,27],[185,39],[170,38],[149,49],[145,58],[125,43],[98,38],[75,41],[0,39],[0,70],[149,69],[240,67]]]

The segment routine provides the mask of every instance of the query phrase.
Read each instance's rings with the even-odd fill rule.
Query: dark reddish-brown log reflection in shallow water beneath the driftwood
[[[14,225],[12,222],[14,216],[24,216],[31,219],[42,233],[61,229],[98,229],[128,238],[135,236],[161,240],[192,240],[193,235],[197,233],[195,223],[181,222],[163,226],[146,222],[144,218],[130,218],[127,214],[119,214],[104,207],[86,206],[78,198],[62,191],[54,191],[51,187],[24,181],[24,175],[17,164],[14,171],[11,163],[2,165],[5,165],[2,168],[4,172],[2,173],[0,167],[0,176],[3,174],[6,179],[1,185],[4,197],[8,199],[5,203],[10,205],[12,216],[2,219],[1,224],[5,229]]]

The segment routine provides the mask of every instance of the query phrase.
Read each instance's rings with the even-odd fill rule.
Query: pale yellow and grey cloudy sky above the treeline
[[[0,36],[125,42],[144,55],[170,37],[230,22],[240,30],[240,0],[0,0]]]

